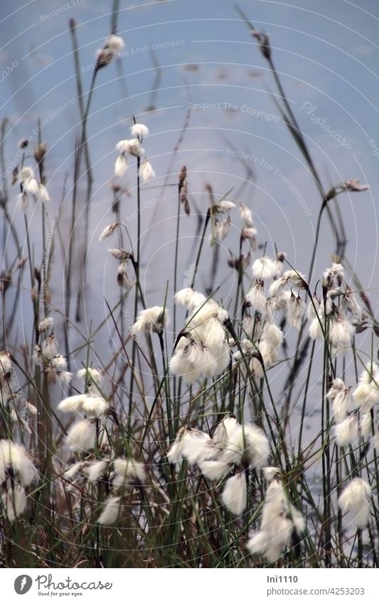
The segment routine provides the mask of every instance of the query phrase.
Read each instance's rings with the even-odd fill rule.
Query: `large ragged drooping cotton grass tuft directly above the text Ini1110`
[[[262,507],[262,521],[259,531],[252,532],[247,543],[251,555],[261,555],[269,563],[274,563],[304,532],[304,517],[293,504],[278,479],[273,479],[267,488]]]

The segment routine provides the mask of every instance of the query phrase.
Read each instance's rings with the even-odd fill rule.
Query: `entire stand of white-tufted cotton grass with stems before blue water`
[[[321,192],[311,266],[292,265],[286,250],[258,246],[265,241],[260,241],[250,207],[233,199],[231,191],[217,198],[208,188],[210,205],[197,239],[191,283],[178,286],[181,234],[195,219],[190,170],[184,166],[174,176],[174,273],[164,274],[165,294],[148,305],[142,281],[141,202],[155,173],[142,146],[148,146],[149,128],[132,119],[132,138],[116,145],[114,174],[122,178],[134,170],[135,237],[122,223],[119,209],[116,222],[103,227],[99,237],[108,241],[117,234],[117,244],[108,251],[119,262],[114,268],[119,303],[112,307],[106,302],[106,319],[95,324],[93,317],[90,336],[82,335],[82,346],[72,349],[73,242],[64,275],[63,329],[53,320],[60,300],[50,295],[54,249],[41,259],[44,270],[36,266],[31,251],[28,206],[31,200],[42,203],[46,234],[43,204],[50,199],[41,154],[46,147],[40,141],[34,168],[24,157],[15,176],[28,258],[20,257],[18,234],[11,228],[19,264],[11,264],[8,281],[5,276],[2,281],[4,300],[11,278],[27,266],[33,306],[31,338],[23,354],[18,342],[6,337],[0,353],[0,563],[5,567],[379,565],[378,325],[367,294],[361,287],[352,288],[358,277],[351,273],[338,228],[338,255],[324,273],[314,274],[321,219],[326,214],[333,222],[329,202],[346,192],[363,194],[367,186],[352,179],[324,192],[274,70],[269,39],[248,25],[279,88],[279,109],[289,133]],[[75,24],[70,27],[81,87]],[[94,82],[122,48],[122,39],[112,31],[97,53],[87,105],[81,107],[72,225],[83,154],[87,207],[91,196],[86,123]],[[129,165],[133,162],[134,167]],[[116,195],[114,202],[119,207],[122,199]],[[231,224],[239,230],[240,244],[228,262],[237,278],[233,299],[225,307],[215,270],[218,245],[228,237]],[[85,232],[87,244],[87,227]],[[208,244],[215,287],[198,290],[196,273]],[[85,258],[86,247],[82,253]],[[105,256],[104,251],[104,261]],[[149,294],[149,303],[151,298]],[[125,308],[132,317],[127,327]],[[4,335],[11,320],[5,313]],[[92,337],[105,323],[119,347],[100,364]],[[293,349],[288,349],[289,330]],[[370,330],[367,358],[360,337]],[[317,393],[321,414],[316,433],[307,441],[304,418],[316,379],[316,346],[322,351]],[[85,362],[75,374],[72,366],[83,352]],[[351,360],[356,379],[346,375]],[[277,366],[287,371],[282,394],[272,390]],[[294,433],[297,379],[304,379],[304,387]],[[318,489],[312,483],[317,467]]]

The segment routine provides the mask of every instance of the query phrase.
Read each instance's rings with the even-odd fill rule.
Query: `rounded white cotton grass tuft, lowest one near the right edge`
[[[371,487],[365,479],[355,477],[338,498],[342,511],[349,511],[357,528],[364,528],[370,518]]]

